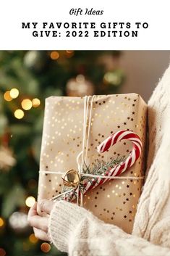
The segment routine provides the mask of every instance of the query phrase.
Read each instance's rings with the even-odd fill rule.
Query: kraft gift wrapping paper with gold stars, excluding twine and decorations
[[[121,141],[102,154],[96,150],[111,133],[129,129],[140,136],[143,152],[122,176],[144,175],[146,110],[147,106],[138,94],[95,96],[87,158],[91,170],[97,161],[108,162],[129,154],[132,149],[130,141]],[[61,194],[61,174],[49,174],[48,171],[65,173],[69,169],[77,170],[77,154],[82,151],[83,118],[82,97],[51,96],[46,99],[40,170],[47,173],[39,175],[38,200]],[[106,181],[83,196],[83,207],[130,234],[142,186],[143,179]]]

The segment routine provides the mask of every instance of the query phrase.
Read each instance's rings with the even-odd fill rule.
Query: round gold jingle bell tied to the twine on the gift
[[[64,186],[74,187],[76,188],[80,183],[80,175],[77,170],[70,169],[64,174]]]

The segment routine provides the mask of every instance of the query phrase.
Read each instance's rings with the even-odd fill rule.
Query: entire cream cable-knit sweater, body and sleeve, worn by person
[[[56,202],[48,234],[71,256],[170,256],[170,67],[148,102],[147,178],[132,235],[69,202]],[[147,241],[148,240],[148,241]]]

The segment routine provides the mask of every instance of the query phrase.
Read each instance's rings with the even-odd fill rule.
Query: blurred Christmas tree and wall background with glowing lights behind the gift
[[[0,51],[0,256],[64,255],[27,224],[37,196],[44,99],[135,92],[147,102],[169,57],[170,51]]]

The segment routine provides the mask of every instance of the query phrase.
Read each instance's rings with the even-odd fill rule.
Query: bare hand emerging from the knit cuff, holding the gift
[[[37,206],[40,208],[41,212],[46,213],[46,217],[41,217],[38,215]],[[41,202],[35,202],[35,205],[30,208],[27,220],[30,226],[33,227],[35,237],[44,241],[49,241],[48,238],[48,221],[51,210],[54,207],[54,202],[43,199]]]

